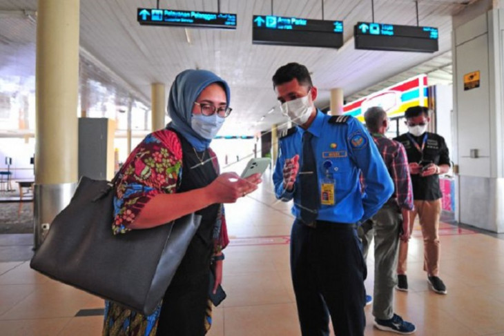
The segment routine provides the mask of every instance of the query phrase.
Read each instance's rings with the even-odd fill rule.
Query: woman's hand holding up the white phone
[[[257,189],[261,182],[260,174],[242,179],[235,172],[224,172],[206,188],[213,203],[235,203],[238,198]]]

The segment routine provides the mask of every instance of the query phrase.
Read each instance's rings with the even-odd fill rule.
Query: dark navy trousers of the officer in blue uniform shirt
[[[329,315],[338,336],[362,336],[367,270],[356,229],[334,223],[291,232],[291,275],[301,332],[329,335]]]

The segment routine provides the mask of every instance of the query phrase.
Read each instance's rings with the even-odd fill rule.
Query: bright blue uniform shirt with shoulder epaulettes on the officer
[[[325,166],[330,166],[336,186],[334,205],[321,205],[317,219],[340,223],[357,223],[374,215],[394,192],[387,167],[362,123],[350,116],[332,117],[317,110],[316,118],[308,128],[313,134],[311,145],[315,154],[318,175],[318,195],[321,181],[327,175]],[[335,122],[336,121],[336,122]],[[299,126],[288,135],[280,137],[278,159],[273,173],[275,195],[283,201],[294,199],[291,209],[296,218],[300,217],[299,175],[292,192],[284,190],[283,167],[285,159],[300,156],[302,166],[302,135],[306,132]],[[329,161],[329,162],[326,162]],[[360,172],[365,177],[365,190],[361,192]],[[320,196],[319,196],[320,197]]]

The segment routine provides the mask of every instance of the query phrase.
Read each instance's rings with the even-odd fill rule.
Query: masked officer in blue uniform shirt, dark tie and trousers
[[[278,199],[293,199],[291,275],[302,335],[329,335],[330,315],[336,335],[362,336],[367,271],[356,228],[394,184],[357,119],[315,108],[317,88],[305,66],[278,68],[273,87],[296,125],[280,137],[273,182]]]

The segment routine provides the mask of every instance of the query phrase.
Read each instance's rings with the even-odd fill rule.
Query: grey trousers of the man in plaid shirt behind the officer
[[[399,207],[387,203],[358,230],[364,259],[367,259],[374,237],[373,315],[376,319],[391,319],[394,316],[394,286],[397,283],[399,230],[402,224]]]

